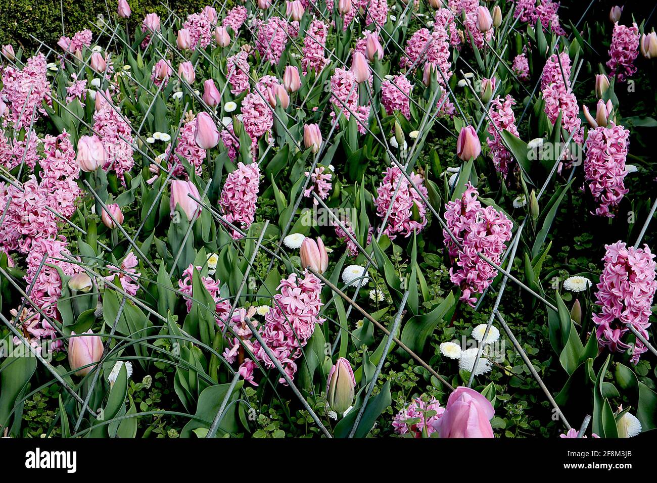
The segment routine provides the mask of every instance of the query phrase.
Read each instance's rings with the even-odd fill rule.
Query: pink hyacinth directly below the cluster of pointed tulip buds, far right
[[[586,140],[584,173],[591,195],[600,204],[598,216],[614,218],[611,212],[628,191],[623,184],[627,170],[625,158],[629,150],[629,131],[610,122],[589,131]]]

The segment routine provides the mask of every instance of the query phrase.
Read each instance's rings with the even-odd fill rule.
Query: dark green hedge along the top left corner
[[[116,14],[117,0],[62,0],[64,6],[64,29],[70,36],[78,30],[91,29],[98,34],[97,29],[89,22],[97,22],[97,16],[107,17],[106,5],[110,14]],[[211,5],[212,0],[128,0],[132,15],[129,28],[131,31],[148,12],[157,12],[162,20],[168,16],[168,11],[162,3],[168,3],[171,10],[183,18],[189,13],[202,10],[205,5]],[[0,43],[22,45],[27,51],[33,51],[39,43],[30,34],[38,37],[51,47],[57,44],[62,35],[62,14],[60,0],[2,0],[0,7]],[[229,4],[235,3],[229,0]],[[223,5],[217,1],[215,8]]]

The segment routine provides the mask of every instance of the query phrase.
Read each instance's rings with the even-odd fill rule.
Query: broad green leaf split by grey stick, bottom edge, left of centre
[[[238,380],[237,384],[235,384],[235,388],[233,388],[233,392],[229,397],[215,437],[223,438],[227,434],[235,434],[235,432],[237,432],[237,405],[235,402],[237,401],[239,392],[243,385],[244,380]],[[231,384],[218,384],[216,386],[209,386],[201,392],[198,397],[198,405],[196,406],[194,419],[191,419],[191,421],[183,427],[183,430],[180,433],[181,438],[191,438],[194,434],[194,430],[200,428],[210,429],[210,425],[212,425],[212,421],[214,420],[215,415],[217,415],[217,412],[221,407],[221,402],[223,402],[226,397],[230,386]]]

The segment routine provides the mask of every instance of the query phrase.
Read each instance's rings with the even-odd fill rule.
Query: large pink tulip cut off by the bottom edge
[[[493,405],[474,389],[458,387],[449,395],[438,420],[440,438],[495,438]]]

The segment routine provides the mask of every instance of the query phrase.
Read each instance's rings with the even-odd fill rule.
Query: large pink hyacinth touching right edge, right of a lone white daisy
[[[593,322],[598,326],[600,346],[611,352],[624,352],[631,348],[630,344],[622,341],[629,332],[627,324],[648,338],[650,308],[657,289],[655,256],[648,245],[627,248],[624,242],[618,241],[604,245],[604,248],[604,269],[595,294],[595,304],[602,311],[593,314]],[[641,340],[637,339],[631,352],[632,362],[639,363],[641,354],[646,350]]]

